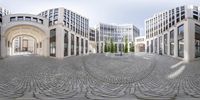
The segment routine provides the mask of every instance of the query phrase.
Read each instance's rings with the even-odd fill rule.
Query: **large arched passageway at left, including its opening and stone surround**
[[[4,37],[4,51],[7,56],[24,54],[48,56],[48,36],[38,27],[31,25],[14,26],[6,30]]]

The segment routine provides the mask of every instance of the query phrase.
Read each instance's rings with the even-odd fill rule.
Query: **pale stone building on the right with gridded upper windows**
[[[146,52],[192,61],[200,57],[200,7],[180,6],[145,20]]]

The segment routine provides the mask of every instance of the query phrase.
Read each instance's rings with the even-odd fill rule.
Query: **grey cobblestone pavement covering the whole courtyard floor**
[[[0,100],[200,100],[200,61],[153,54],[0,59]]]

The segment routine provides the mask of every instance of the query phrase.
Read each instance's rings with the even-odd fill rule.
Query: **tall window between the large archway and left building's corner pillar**
[[[56,29],[50,30],[50,56],[56,56]]]

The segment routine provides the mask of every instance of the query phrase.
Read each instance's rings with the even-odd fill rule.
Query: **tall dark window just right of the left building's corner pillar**
[[[64,56],[68,56],[68,31],[64,30]]]

